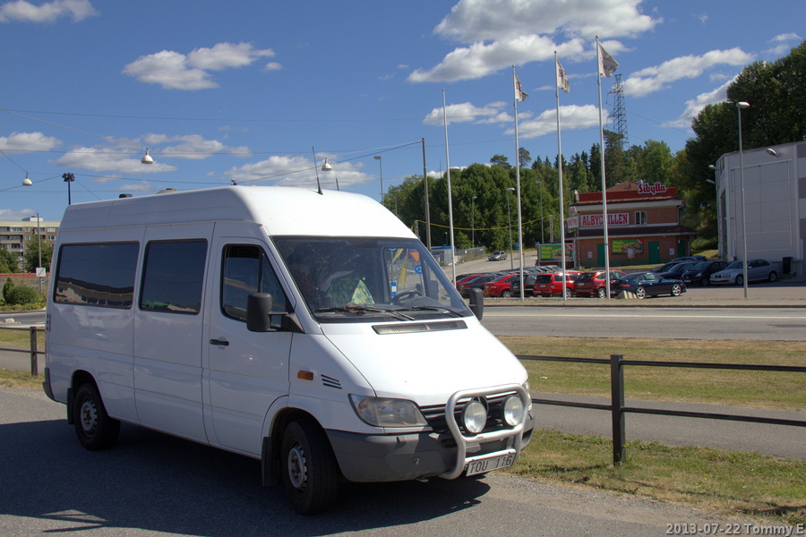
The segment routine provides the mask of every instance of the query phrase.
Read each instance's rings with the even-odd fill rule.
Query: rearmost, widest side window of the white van
[[[139,251],[138,243],[62,245],[53,301],[130,309]]]

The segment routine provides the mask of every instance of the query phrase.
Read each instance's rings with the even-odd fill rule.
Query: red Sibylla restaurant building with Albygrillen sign
[[[697,234],[682,226],[683,200],[661,183],[625,181],[607,189],[607,235],[611,265],[660,264],[690,254]],[[604,267],[602,192],[580,193],[570,212],[578,266]]]

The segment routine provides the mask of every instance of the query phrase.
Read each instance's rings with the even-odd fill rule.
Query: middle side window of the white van
[[[201,290],[207,241],[151,242],[142,268],[142,310],[196,314],[201,311]]]

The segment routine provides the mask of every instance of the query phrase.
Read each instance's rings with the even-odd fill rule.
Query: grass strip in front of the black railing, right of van
[[[727,518],[806,524],[806,461],[711,447],[627,442],[612,464],[612,440],[536,430],[517,465],[502,473],[609,490]]]

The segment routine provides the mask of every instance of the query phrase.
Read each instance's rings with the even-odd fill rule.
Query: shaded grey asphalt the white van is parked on
[[[258,461],[126,425],[115,447],[90,452],[63,405],[25,389],[0,388],[0,446],[0,534],[9,537],[652,537],[673,524],[729,527],[698,510],[503,476],[347,484],[335,510],[306,518],[262,488]]]

